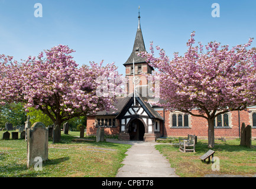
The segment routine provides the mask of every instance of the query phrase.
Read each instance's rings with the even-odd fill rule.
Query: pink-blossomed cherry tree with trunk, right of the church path
[[[229,50],[229,45],[217,42],[195,46],[195,32],[190,36],[184,56],[174,53],[170,60],[157,46],[159,57],[155,57],[153,43],[151,53],[139,55],[157,69],[160,99],[165,101],[158,105],[207,119],[208,147],[213,148],[216,116],[256,104],[256,48],[247,50],[252,38]]]

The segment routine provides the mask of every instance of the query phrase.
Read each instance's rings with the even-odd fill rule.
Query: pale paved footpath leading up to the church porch
[[[175,174],[175,168],[171,168],[168,160],[155,149],[156,142],[109,142],[132,145],[116,177],[179,177]]]

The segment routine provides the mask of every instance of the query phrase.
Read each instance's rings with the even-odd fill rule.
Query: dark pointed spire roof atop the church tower
[[[146,51],[145,44],[143,40],[143,35],[141,31],[141,16],[140,16],[140,6],[139,6],[139,15],[138,15],[138,28],[137,33],[134,41],[134,48],[132,49],[131,56],[129,56],[128,60],[124,63],[124,65],[132,64],[133,58],[134,63],[144,63],[145,58],[141,58],[140,56],[137,56],[137,53],[140,51]]]

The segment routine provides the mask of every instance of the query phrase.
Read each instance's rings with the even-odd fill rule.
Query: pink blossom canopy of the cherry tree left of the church
[[[103,61],[78,67],[70,55],[73,52],[66,45],[58,45],[22,63],[1,55],[0,103],[25,103],[27,110],[40,109],[56,125],[77,116],[114,109],[115,96],[99,96],[96,90],[101,86],[99,76],[108,80],[119,77],[117,67],[114,63],[103,66]]]

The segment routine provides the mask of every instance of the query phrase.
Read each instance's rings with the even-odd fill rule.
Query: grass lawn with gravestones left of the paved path
[[[34,167],[27,169],[24,139],[0,140],[0,177],[115,177],[131,145],[73,142],[75,136],[79,136],[79,132],[69,132],[69,135],[61,132],[60,143],[48,142],[48,161],[42,171],[35,171]]]

